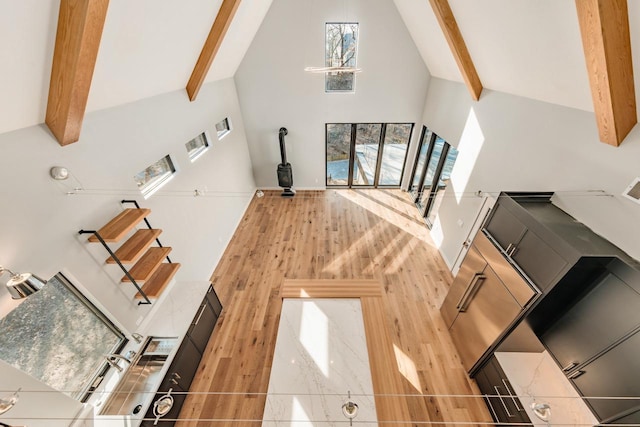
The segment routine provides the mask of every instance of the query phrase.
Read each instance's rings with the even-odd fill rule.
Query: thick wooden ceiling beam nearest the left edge
[[[109,0],[61,0],[45,123],[60,145],[80,138]]]

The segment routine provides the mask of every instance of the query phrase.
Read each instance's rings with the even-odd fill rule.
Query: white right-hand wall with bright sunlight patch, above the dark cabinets
[[[473,102],[438,78],[423,123],[460,151],[432,231],[449,266],[480,207],[474,193],[503,190],[555,191],[554,203],[640,259],[640,205],[620,196],[640,175],[637,127],[616,148],[598,141],[593,113],[486,89]]]

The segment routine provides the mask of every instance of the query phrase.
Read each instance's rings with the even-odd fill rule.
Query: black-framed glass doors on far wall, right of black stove
[[[399,187],[413,123],[327,123],[327,186]]]

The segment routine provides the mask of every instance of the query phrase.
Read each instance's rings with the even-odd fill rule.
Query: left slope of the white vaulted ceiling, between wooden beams
[[[272,0],[243,0],[206,81],[233,77]],[[222,0],[111,0],[87,112],[186,87]],[[0,1],[0,133],[44,122],[60,0]]]

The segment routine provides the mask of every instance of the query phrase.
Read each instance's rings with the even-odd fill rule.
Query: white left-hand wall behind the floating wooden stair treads
[[[215,123],[225,117],[233,130],[218,142]],[[184,144],[205,130],[213,146],[192,164]],[[255,190],[232,79],[205,84],[193,103],[178,91],[88,114],[80,141],[67,147],[44,126],[2,134],[0,146],[0,265],[44,278],[63,270],[129,332],[150,308],[137,305],[133,286],[118,283],[118,267],[105,266],[106,251],[78,230],[101,227],[121,210],[119,200],[137,199],[151,208],[151,225],[164,230],[160,240],[173,247],[172,261],[182,264],[176,286],[208,280]],[[145,201],[133,176],[166,154],[178,173]],[[54,165],[66,166],[85,190],[66,195],[66,182],[49,178]],[[194,197],[195,189],[204,194]],[[0,287],[0,316],[14,305]],[[7,375],[15,372],[0,367],[0,378]]]

